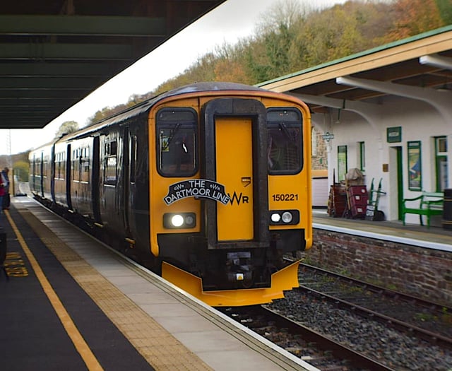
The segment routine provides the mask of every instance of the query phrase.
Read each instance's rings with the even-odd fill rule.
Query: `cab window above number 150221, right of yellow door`
[[[270,108],[267,112],[268,172],[296,174],[303,167],[302,114],[295,108]]]

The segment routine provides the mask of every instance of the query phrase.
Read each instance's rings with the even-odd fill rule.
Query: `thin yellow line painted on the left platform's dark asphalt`
[[[11,225],[11,228],[13,228],[13,231],[16,234],[20,246],[25,252],[28,260],[30,261],[32,269],[33,271],[35,271],[37,279],[38,281],[40,281],[44,293],[47,295],[47,298],[49,298],[49,301],[52,304],[52,307],[54,307],[55,312],[57,312],[57,316],[59,317],[61,324],[63,324],[64,329],[66,329],[66,332],[69,335],[69,338],[71,338],[73,345],[76,347],[78,353],[80,353],[86,367],[88,367],[88,370],[103,370],[102,366],[97,361],[97,358],[95,358],[95,355],[91,351],[85,339],[78,331],[76,324],[73,323],[71,316],[66,311],[63,303],[61,303],[61,300],[59,300],[57,293],[55,293],[52,285],[47,280],[47,277],[42,271],[40,264],[37,262],[35,256],[28,248],[28,245],[20,234],[20,231],[18,230],[16,223],[14,223],[13,218],[11,218],[11,215],[7,210],[4,211],[4,213],[6,215],[6,218],[8,218],[8,222]]]

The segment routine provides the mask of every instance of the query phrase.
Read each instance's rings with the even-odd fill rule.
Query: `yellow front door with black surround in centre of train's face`
[[[208,247],[266,247],[266,108],[258,100],[215,99],[203,107],[203,121],[202,176],[230,197],[227,204],[206,202]]]

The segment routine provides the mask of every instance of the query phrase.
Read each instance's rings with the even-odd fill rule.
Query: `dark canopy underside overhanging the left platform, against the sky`
[[[224,1],[3,1],[0,129],[44,127]]]

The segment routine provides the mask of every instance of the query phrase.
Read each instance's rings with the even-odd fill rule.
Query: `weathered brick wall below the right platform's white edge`
[[[314,229],[307,264],[452,304],[452,252]]]

